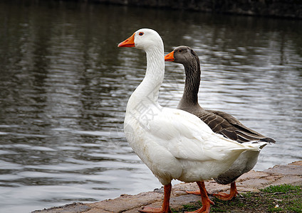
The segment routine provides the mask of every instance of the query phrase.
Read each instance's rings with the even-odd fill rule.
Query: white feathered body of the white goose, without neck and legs
[[[194,182],[217,178],[241,152],[259,151],[259,143],[245,145],[224,138],[186,111],[145,107],[150,114],[142,116],[127,109],[125,134],[162,185],[172,179]]]

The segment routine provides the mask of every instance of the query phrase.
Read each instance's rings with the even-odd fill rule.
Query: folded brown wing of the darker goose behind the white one
[[[226,138],[230,138],[239,143],[248,141],[267,141],[276,143],[274,139],[267,138],[252,129],[247,128],[234,116],[223,111],[202,109],[195,114],[202,119],[215,133],[220,133]]]

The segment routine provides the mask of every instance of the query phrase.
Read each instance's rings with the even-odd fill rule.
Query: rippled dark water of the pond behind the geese
[[[197,52],[203,107],[277,141],[256,170],[302,160],[302,21],[63,1],[1,2],[0,20],[0,212],[161,186],[123,134],[146,65],[117,45],[142,27],[165,53]],[[161,104],[175,108],[183,84],[182,65],[166,62]]]

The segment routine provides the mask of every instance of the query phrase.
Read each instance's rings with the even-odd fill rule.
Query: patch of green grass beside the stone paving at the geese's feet
[[[302,213],[302,186],[276,185],[260,192],[247,192],[230,201],[214,198],[211,212],[294,212]],[[178,212],[194,211],[201,202],[187,204]],[[177,213],[177,211],[173,211]]]

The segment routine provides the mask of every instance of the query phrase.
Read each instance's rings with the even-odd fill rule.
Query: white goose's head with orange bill
[[[118,44],[119,48],[135,47],[141,50],[147,50],[155,46],[163,48],[162,38],[156,31],[148,28],[136,31],[129,38]]]

